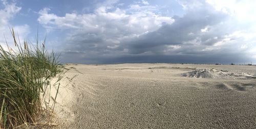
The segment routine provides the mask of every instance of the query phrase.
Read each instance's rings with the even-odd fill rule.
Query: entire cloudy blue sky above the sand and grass
[[[254,0],[0,0],[0,44],[9,28],[37,32],[62,63],[256,64]]]

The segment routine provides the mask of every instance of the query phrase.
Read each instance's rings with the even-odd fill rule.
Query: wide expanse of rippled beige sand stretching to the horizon
[[[256,74],[256,66],[65,65],[57,128],[255,128],[256,79],[189,78],[198,69]],[[215,72],[216,73],[216,72]],[[191,77],[191,76],[190,76]],[[71,97],[71,98],[70,98]],[[71,116],[71,117],[69,117]],[[54,127],[56,128],[56,127]]]

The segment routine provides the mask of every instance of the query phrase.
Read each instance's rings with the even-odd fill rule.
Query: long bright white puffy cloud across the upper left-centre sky
[[[109,3],[111,2],[112,1],[109,1]],[[127,10],[119,8],[115,8],[114,10],[111,8],[110,10],[108,7],[101,6],[92,14],[66,13],[63,17],[49,13],[50,9],[45,8],[39,11],[37,20],[48,29],[85,28],[87,30],[104,30],[107,28],[106,25],[115,22],[117,25],[120,24],[120,28],[132,30],[131,33],[134,32],[134,30],[138,33],[154,31],[161,27],[163,22],[168,24],[174,22],[174,19],[171,17],[160,16],[150,11],[153,8],[155,7],[131,5],[130,9]],[[148,9],[148,11],[141,11],[145,9]]]

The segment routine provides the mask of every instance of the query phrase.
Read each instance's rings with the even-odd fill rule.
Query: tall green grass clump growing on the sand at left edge
[[[0,44],[0,128],[35,123],[51,79],[62,72],[58,57],[45,49],[45,41],[28,45],[17,42],[11,33],[15,48]]]

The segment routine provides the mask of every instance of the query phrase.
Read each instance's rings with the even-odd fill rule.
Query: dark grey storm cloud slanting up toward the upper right
[[[173,24],[165,24],[155,32],[133,39],[125,43],[124,47],[129,48],[132,54],[141,54],[148,50],[155,51],[158,46],[183,45],[184,42],[197,38],[197,42],[202,42],[200,45],[212,45],[223,39],[223,33],[203,34],[201,29],[207,25],[217,25],[228,18],[227,14],[213,10],[211,6],[187,10],[188,13],[183,17],[176,17]]]

